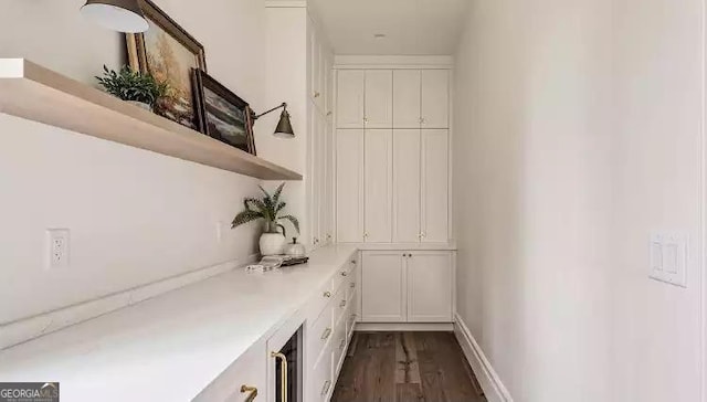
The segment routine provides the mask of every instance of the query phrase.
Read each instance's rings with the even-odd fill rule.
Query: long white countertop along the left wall
[[[59,381],[71,402],[186,401],[302,308],[357,250],[235,269],[0,352],[0,381]]]

